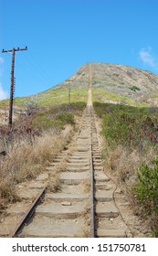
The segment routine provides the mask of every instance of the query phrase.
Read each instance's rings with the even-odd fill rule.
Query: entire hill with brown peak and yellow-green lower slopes
[[[68,88],[71,102],[87,101],[87,90],[92,84],[93,101],[120,101],[133,106],[158,105],[158,76],[152,72],[118,64],[100,62],[86,63],[71,77],[47,91],[15,99],[15,106],[24,106],[27,101],[36,101],[39,106],[68,103]],[[1,101],[0,106],[6,104]],[[8,105],[8,103],[7,103]]]

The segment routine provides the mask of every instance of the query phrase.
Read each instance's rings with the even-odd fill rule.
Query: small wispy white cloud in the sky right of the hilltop
[[[139,57],[144,64],[147,64],[152,68],[158,68],[158,63],[153,55],[152,48],[142,48],[139,52]]]

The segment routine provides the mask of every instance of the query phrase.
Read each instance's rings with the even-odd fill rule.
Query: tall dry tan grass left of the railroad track
[[[34,144],[26,140],[17,140],[9,146],[8,156],[0,162],[1,208],[5,203],[18,199],[16,184],[35,178],[46,170],[47,165],[68,144],[72,129],[69,128],[66,133],[59,135],[54,132],[43,133],[42,136],[35,138]]]

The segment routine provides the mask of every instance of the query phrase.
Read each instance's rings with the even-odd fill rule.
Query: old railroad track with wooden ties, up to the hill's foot
[[[13,236],[126,237],[127,227],[113,198],[116,186],[103,171],[92,106],[83,113],[76,141],[58,155],[49,173],[62,163],[65,170],[59,173],[58,191],[43,189]]]

